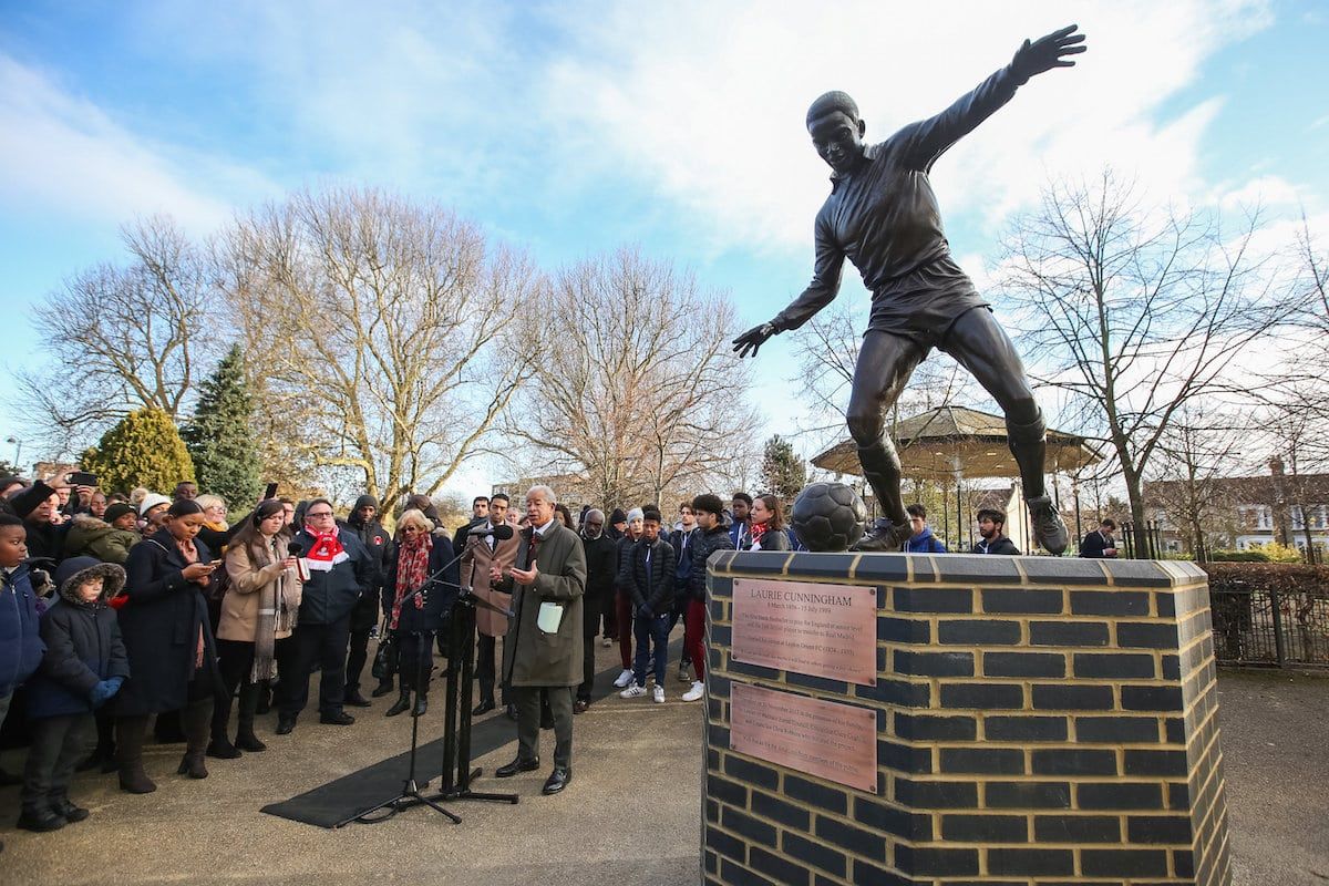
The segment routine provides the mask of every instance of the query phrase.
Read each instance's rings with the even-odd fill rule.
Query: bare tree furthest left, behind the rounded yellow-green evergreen
[[[144,406],[182,418],[227,339],[206,250],[165,217],[126,224],[121,239],[128,264],[76,274],[35,312],[52,359],[19,373],[21,408],[31,433],[58,453]]]

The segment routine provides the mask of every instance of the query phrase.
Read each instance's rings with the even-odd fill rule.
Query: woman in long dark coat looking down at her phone
[[[157,789],[144,772],[148,717],[181,709],[186,751],[179,774],[206,778],[213,693],[219,685],[217,648],[205,592],[221,565],[197,541],[203,510],[182,498],[166,511],[166,523],[129,551],[120,631],[129,652],[130,677],[116,699],[116,758],[120,786],[130,793]]]

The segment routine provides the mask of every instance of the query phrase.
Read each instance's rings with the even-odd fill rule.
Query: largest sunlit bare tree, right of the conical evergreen
[[[286,458],[354,469],[383,502],[433,494],[485,450],[524,380],[544,280],[436,205],[304,193],[237,223],[225,286],[259,421]],[[294,450],[294,456],[292,452]]]

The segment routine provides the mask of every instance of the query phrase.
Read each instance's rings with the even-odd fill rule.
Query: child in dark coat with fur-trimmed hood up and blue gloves
[[[23,773],[19,826],[57,830],[88,817],[69,801],[69,780],[88,753],[93,711],[129,676],[116,610],[108,600],[125,586],[125,570],[76,557],[56,571],[58,600],[41,616],[47,652],[28,683],[32,749]]]

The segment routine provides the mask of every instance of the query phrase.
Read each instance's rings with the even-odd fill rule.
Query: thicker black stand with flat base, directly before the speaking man
[[[443,728],[443,781],[435,800],[489,800],[520,802],[517,794],[484,793],[470,789],[470,781],[482,774],[470,768],[470,701],[476,659],[476,608],[510,615],[488,600],[461,588],[452,607],[452,655],[448,656],[447,721]],[[459,699],[460,696],[460,699]],[[460,700],[460,705],[459,705]]]

